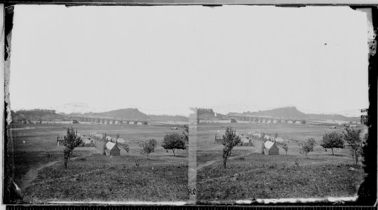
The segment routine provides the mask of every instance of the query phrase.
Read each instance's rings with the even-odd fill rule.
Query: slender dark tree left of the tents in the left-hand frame
[[[77,134],[77,130],[75,132],[74,128],[67,128],[67,134],[65,135],[65,137],[63,137],[63,145],[65,146],[63,154],[66,169],[68,160],[71,160],[72,151],[74,151],[74,148],[79,146],[81,143],[83,143],[83,141],[81,140],[79,134]]]

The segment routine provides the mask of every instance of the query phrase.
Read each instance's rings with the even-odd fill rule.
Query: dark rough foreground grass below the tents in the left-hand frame
[[[189,198],[187,170],[187,164],[163,159],[95,154],[69,162],[68,169],[56,164],[41,170],[24,200],[184,201]]]

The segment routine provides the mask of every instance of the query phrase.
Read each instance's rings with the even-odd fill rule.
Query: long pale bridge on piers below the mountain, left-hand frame
[[[123,120],[116,118],[101,118],[101,117],[83,117],[72,116],[69,120],[77,120],[78,122],[88,122],[96,124],[109,124],[109,125],[153,125],[161,127],[180,127],[184,128],[185,125],[169,124],[169,123],[157,123],[148,120]]]

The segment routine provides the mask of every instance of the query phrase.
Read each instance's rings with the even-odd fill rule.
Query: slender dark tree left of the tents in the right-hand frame
[[[241,142],[241,138],[236,135],[236,130],[234,130],[231,126],[226,128],[226,132],[222,136],[222,145],[223,148],[223,167],[226,168],[227,159],[229,155],[231,155],[231,150],[234,146],[238,145]]]

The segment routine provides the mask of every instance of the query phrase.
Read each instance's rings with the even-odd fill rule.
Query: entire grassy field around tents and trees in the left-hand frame
[[[90,132],[119,134],[130,143],[127,154],[101,155],[98,148],[74,149],[76,159],[62,166],[63,146],[56,138],[77,128],[81,135]],[[15,183],[22,186],[23,202],[49,201],[185,201],[187,195],[187,150],[173,156],[161,147],[167,132],[180,132],[167,127],[142,125],[13,125]],[[154,153],[140,154],[135,141],[156,139]],[[25,141],[25,144],[24,144]],[[50,153],[50,158],[46,156]],[[80,158],[84,156],[83,158]],[[30,174],[35,177],[30,178]],[[25,180],[31,180],[25,184]],[[25,186],[26,185],[26,186]],[[25,189],[23,189],[25,187]]]

